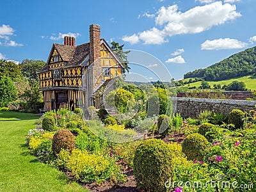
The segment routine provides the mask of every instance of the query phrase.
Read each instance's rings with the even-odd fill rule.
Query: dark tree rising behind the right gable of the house
[[[131,68],[128,66],[129,61],[127,60],[127,54],[130,51],[124,51],[124,45],[119,45],[119,43],[117,42],[111,42],[111,45],[111,49],[115,52],[116,56],[121,61],[122,65],[124,65],[123,72],[129,72]]]

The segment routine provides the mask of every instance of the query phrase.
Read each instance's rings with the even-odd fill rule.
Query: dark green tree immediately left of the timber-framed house
[[[33,82],[35,79],[36,81],[39,80],[38,75],[36,72],[40,70],[45,65],[44,61],[40,60],[23,60],[19,66],[20,70],[24,76],[25,79],[27,79],[30,83]]]

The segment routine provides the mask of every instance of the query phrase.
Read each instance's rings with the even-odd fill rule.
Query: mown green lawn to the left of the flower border
[[[0,191],[87,191],[28,153],[24,136],[38,115],[0,111]]]

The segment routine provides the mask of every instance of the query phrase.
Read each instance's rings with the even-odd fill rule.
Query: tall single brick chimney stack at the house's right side
[[[100,58],[100,26],[90,25],[90,63]]]

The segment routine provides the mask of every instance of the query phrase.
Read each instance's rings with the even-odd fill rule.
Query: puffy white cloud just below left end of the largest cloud
[[[144,41],[144,44],[163,44],[167,42],[164,40],[163,31],[160,31],[157,28],[152,28],[148,31],[143,31],[139,33],[139,38]]]

